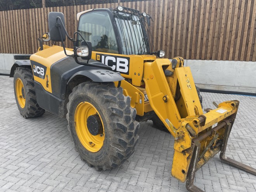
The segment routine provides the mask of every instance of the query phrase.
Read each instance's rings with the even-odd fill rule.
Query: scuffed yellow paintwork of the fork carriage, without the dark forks
[[[206,114],[203,114],[204,118],[206,118],[205,123],[200,122],[200,119],[198,118],[199,115],[188,116],[187,118],[180,119],[180,122],[182,122],[182,126],[178,129],[178,131],[182,130],[183,135],[176,134],[175,136],[173,166],[171,170],[171,174],[175,178],[182,182],[185,182],[187,178],[188,167],[192,158],[192,151],[194,149],[190,143],[191,137],[189,138],[186,133],[185,125],[189,124],[195,131],[196,135],[198,135],[204,130],[210,130],[215,123],[219,123],[223,119],[226,119],[230,116],[232,118],[235,118],[235,116],[233,115],[237,113],[238,105],[239,102],[236,100],[226,101],[219,104],[218,109],[214,109]],[[219,136],[217,139],[223,139],[224,129],[221,128],[220,130],[218,130],[218,134]],[[201,141],[201,148],[199,154],[202,153],[207,144],[213,139],[213,136],[214,135],[210,135],[209,137],[206,137],[204,140]],[[197,167],[200,168],[201,166],[203,166],[219,151],[220,147],[216,149],[208,149],[201,161],[198,162]]]

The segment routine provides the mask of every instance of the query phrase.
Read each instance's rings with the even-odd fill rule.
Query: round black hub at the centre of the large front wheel
[[[98,114],[91,115],[87,118],[87,128],[92,135],[103,133],[103,127]]]

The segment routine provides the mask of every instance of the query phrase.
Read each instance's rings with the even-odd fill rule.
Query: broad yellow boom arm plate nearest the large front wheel
[[[143,80],[146,85],[145,88],[150,106],[173,137],[175,137],[173,126],[175,128],[180,126],[180,122],[178,121],[180,114],[163,71],[163,68],[166,69],[170,64],[169,59],[156,59],[154,62],[144,62]],[[164,96],[167,96],[167,102],[164,102]],[[169,119],[172,125],[168,125],[166,119]]]

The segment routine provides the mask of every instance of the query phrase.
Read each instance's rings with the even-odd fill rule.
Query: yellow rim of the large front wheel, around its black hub
[[[104,125],[102,118],[99,115],[103,127],[103,134],[92,135],[87,127],[87,118],[91,115],[98,114],[99,112],[92,104],[88,102],[81,102],[76,107],[74,114],[76,134],[81,144],[90,152],[98,152],[104,144]]]

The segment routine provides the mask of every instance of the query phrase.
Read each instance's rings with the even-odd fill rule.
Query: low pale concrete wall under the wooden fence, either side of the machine
[[[14,54],[0,54],[0,73],[10,74]],[[185,60],[203,89],[256,93],[256,62]]]

